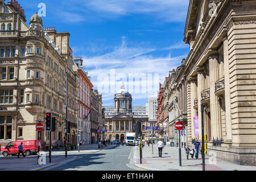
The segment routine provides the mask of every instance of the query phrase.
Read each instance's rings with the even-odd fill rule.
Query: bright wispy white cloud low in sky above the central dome
[[[100,90],[98,88],[102,84],[102,80],[98,80],[98,76],[103,75],[108,84],[108,92],[102,93],[103,102],[113,102],[114,93],[120,89],[121,80],[119,79],[116,82],[110,82],[110,72],[115,71],[115,76],[122,74],[125,78],[129,78],[129,74],[144,74],[152,76],[152,86],[144,85],[141,81],[135,80],[132,81],[134,86],[139,86],[139,93],[132,93],[133,99],[141,99],[156,96],[156,93],[159,89],[159,79],[154,81],[154,76],[159,76],[160,79],[164,79],[168,76],[170,70],[177,67],[180,64],[181,60],[186,57],[186,55],[180,55],[176,57],[171,56],[171,52],[167,56],[153,56],[152,52],[158,50],[172,50],[172,49],[182,49],[186,48],[181,43],[174,44],[163,49],[155,48],[144,48],[144,47],[129,47],[127,46],[126,38],[122,38],[121,46],[115,48],[112,52],[105,53],[105,55],[94,56],[94,57],[85,57],[85,68],[88,70],[89,75],[92,77],[91,81],[93,82],[94,89]],[[125,80],[125,85],[129,85],[130,80]],[[112,86],[115,86],[114,90],[111,90]],[[150,89],[148,89],[150,88]],[[142,90],[146,90],[146,93]],[[152,89],[152,90],[151,90]],[[109,93],[110,91],[110,93]],[[135,90],[134,90],[135,91]]]

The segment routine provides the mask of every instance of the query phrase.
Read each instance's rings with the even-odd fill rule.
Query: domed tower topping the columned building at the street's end
[[[121,89],[114,97],[114,113],[132,113],[132,100],[131,94],[127,92],[123,83]]]

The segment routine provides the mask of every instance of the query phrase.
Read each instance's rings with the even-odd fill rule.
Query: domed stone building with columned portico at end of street
[[[125,139],[126,133],[136,133],[136,123],[139,120],[142,122],[142,136],[148,135],[144,127],[148,126],[148,117],[143,114],[133,114],[132,97],[125,89],[125,85],[115,94],[114,97],[114,112],[105,115],[105,133],[106,139],[119,140]],[[136,134],[136,137],[139,135]]]

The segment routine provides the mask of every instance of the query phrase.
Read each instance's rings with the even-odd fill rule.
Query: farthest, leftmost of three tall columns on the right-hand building
[[[197,136],[197,138],[200,140],[201,140],[201,136],[202,136],[201,92],[205,89],[204,70],[205,70],[205,67],[197,68],[197,99],[198,99],[198,117],[199,117],[199,136]]]

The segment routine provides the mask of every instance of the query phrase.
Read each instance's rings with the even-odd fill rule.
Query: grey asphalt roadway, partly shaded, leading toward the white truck
[[[131,171],[127,167],[129,155],[133,146],[113,146],[100,152],[81,155],[63,166],[50,169],[51,171]],[[47,169],[46,169],[47,170]]]

